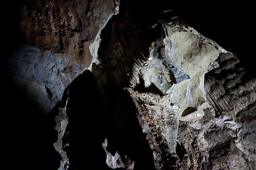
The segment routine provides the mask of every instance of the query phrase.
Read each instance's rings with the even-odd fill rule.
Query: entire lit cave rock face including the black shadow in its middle
[[[133,3],[22,4],[8,65],[54,134],[42,169],[255,169],[254,74],[170,8]]]

